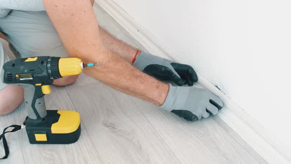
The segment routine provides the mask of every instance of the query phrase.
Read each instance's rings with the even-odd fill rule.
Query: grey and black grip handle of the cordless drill
[[[24,101],[28,117],[37,120],[46,116],[44,94],[40,85],[21,84],[24,87]]]

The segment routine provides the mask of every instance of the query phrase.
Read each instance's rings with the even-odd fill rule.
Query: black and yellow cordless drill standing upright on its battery
[[[28,112],[24,124],[32,144],[69,144],[81,133],[80,116],[75,111],[46,110],[44,95],[55,79],[78,75],[85,66],[78,58],[40,56],[9,61],[3,65],[2,81],[24,88]]]

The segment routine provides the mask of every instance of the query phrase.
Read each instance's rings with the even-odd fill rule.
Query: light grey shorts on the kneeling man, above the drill
[[[9,47],[16,58],[68,56],[56,29],[44,11],[12,10],[6,17],[0,19],[0,32],[8,39]],[[5,55],[0,55],[1,63]],[[2,66],[0,68],[2,71]],[[0,80],[0,89],[5,86]]]

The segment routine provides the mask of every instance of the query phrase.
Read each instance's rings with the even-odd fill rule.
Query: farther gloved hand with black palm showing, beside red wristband
[[[198,81],[196,72],[191,66],[176,63],[144,51],[137,57],[133,66],[160,81],[173,81],[179,86],[184,84],[192,86],[194,82]]]

